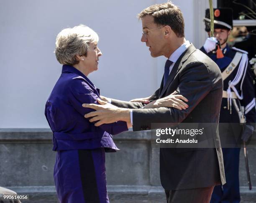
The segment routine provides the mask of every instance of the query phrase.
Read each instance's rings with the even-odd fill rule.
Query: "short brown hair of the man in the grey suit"
[[[177,37],[184,37],[184,18],[181,10],[172,2],[151,5],[138,14],[141,19],[146,15],[154,17],[154,23],[169,25]]]

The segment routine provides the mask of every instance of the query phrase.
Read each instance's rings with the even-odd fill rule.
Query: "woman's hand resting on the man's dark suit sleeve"
[[[144,109],[149,108],[159,108],[159,107],[174,107],[176,109],[187,109],[188,105],[184,103],[184,101],[188,101],[188,99],[180,94],[176,94],[177,91],[174,91],[172,94],[157,99],[156,101],[153,101],[147,105],[144,106]],[[182,101],[183,100],[183,101]]]

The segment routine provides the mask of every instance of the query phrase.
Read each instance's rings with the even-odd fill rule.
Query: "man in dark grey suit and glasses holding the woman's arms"
[[[96,110],[85,117],[96,126],[122,120],[134,131],[151,129],[152,123],[159,122],[218,123],[223,94],[220,69],[185,40],[180,9],[170,2],[152,5],[138,18],[143,27],[141,41],[151,56],[167,58],[160,88],[146,98],[152,101],[146,106],[115,99],[111,104],[101,100],[102,105],[83,104]],[[182,110],[173,108],[175,102],[168,105],[174,91],[188,99]],[[213,187],[225,184],[217,127],[212,132],[215,148],[160,148],[160,178],[167,203],[207,203]]]

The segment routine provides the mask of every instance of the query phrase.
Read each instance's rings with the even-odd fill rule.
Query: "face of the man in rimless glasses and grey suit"
[[[143,29],[141,42],[146,42],[152,57],[164,55],[164,26],[154,23],[154,18],[151,15],[147,15],[141,20]]]

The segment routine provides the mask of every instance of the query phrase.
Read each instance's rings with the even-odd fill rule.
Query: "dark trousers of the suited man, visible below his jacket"
[[[214,186],[187,190],[165,190],[167,203],[209,203]]]

